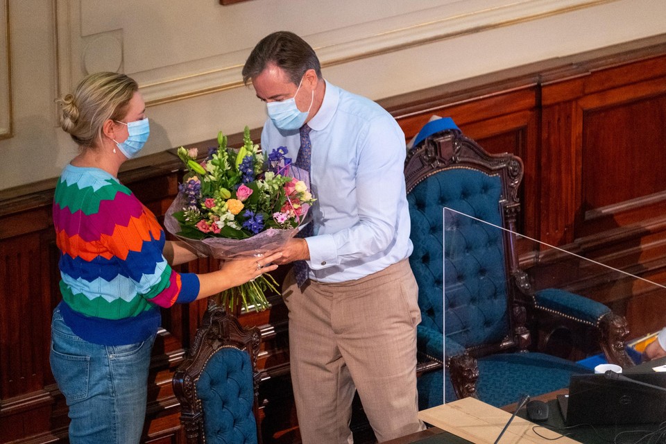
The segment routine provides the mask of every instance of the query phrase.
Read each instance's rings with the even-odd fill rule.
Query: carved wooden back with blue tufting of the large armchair
[[[490,155],[459,130],[428,137],[405,163],[420,327],[442,332],[445,318],[447,341],[475,356],[529,345],[524,309],[510,285],[520,275],[515,239],[472,219],[514,231],[522,171],[519,157]],[[444,207],[471,218],[460,216],[456,230],[445,230]]]

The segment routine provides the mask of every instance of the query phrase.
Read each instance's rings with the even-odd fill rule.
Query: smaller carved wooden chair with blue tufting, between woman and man
[[[185,361],[173,375],[187,442],[261,443],[255,371],[261,333],[209,301]]]

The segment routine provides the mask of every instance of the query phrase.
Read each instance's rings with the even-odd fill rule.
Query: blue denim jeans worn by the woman
[[[51,370],[69,406],[71,444],[139,443],[155,334],[132,345],[99,345],[51,322]]]

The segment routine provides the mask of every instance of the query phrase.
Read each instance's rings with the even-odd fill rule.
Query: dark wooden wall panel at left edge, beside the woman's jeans
[[[51,320],[44,251],[39,231],[0,241],[0,442],[50,426],[52,400],[43,390],[50,377],[44,325]]]

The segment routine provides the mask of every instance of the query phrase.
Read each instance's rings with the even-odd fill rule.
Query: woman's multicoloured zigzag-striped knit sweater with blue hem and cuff
[[[191,302],[194,273],[164,259],[166,236],[153,213],[117,178],[67,165],[56,185],[53,225],[60,248],[60,312],[92,343],[127,345],[160,326],[160,307]]]

